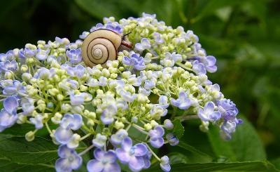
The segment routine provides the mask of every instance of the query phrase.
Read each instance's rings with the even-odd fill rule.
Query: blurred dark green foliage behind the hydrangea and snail
[[[74,41],[103,17],[156,13],[167,25],[192,29],[207,53],[216,56],[218,72],[209,74],[211,81],[220,84],[225,97],[251,121],[267,159],[280,166],[279,9],[277,0],[1,1],[0,52],[39,39]],[[190,126],[185,127],[191,138],[197,131]],[[208,143],[185,140],[207,151],[203,145]]]

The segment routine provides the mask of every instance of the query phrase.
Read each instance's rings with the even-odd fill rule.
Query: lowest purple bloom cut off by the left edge
[[[0,112],[0,132],[10,126],[13,126],[17,119],[18,115],[10,114],[3,108]]]

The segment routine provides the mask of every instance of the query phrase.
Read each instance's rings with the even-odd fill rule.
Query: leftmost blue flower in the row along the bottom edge
[[[75,150],[66,147],[66,145],[60,145],[57,152],[60,157],[55,161],[55,170],[57,172],[71,172],[72,170],[77,170],[82,164],[82,157],[78,156]]]

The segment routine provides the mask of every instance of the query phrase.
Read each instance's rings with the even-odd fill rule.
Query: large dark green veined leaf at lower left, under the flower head
[[[0,154],[0,158],[6,157],[18,164],[53,163],[57,159],[57,145],[39,137],[32,142],[24,137],[1,137]]]

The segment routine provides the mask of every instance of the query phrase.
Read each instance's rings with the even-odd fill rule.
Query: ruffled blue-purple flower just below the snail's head
[[[132,67],[134,70],[144,70],[146,67],[143,57],[133,51],[130,53],[130,58],[127,56],[123,57],[123,64]]]

